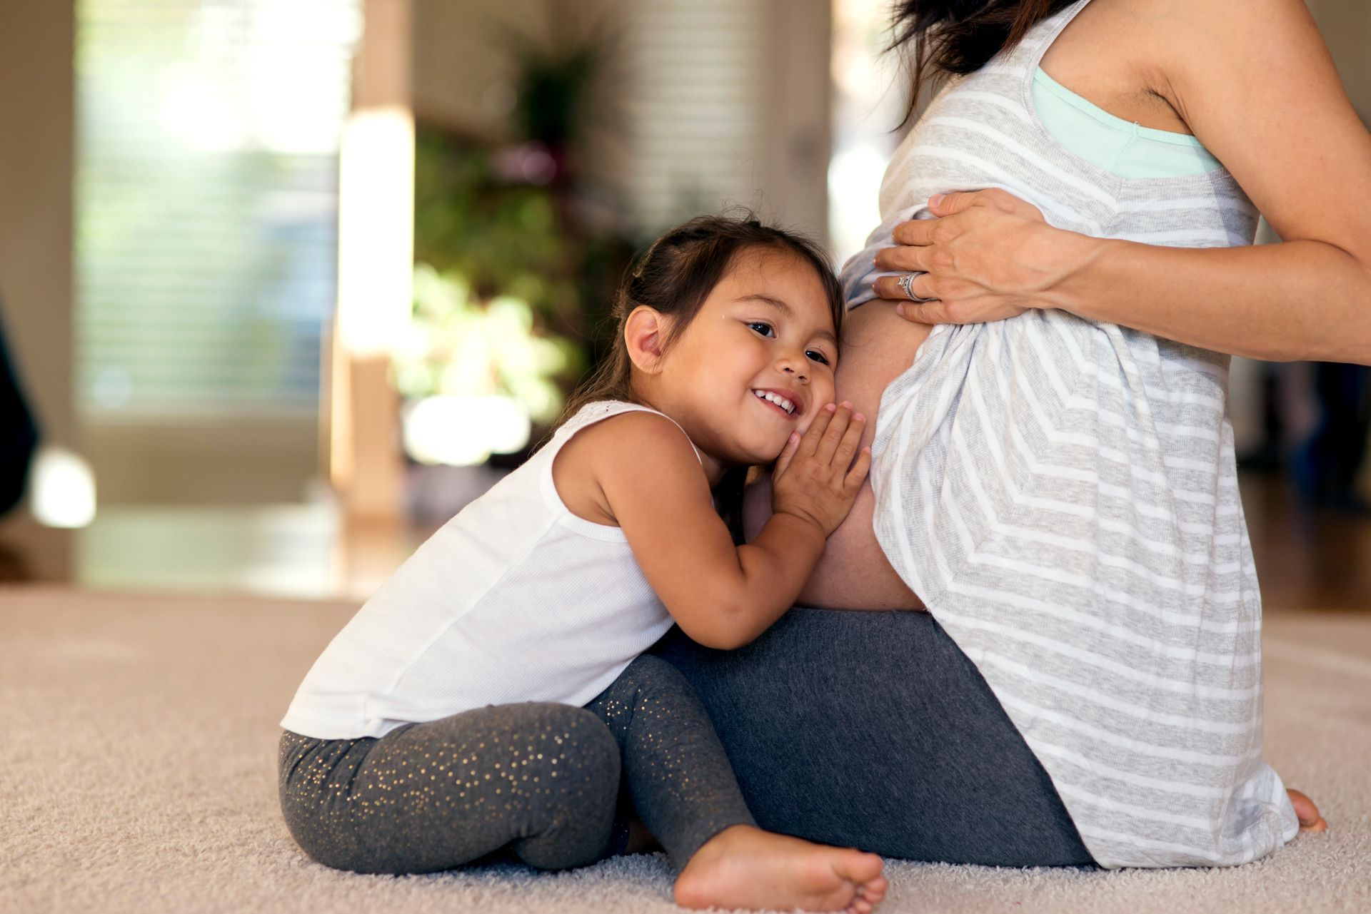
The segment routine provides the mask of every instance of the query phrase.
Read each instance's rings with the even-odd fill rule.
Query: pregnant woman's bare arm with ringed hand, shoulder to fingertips
[[[1261,359],[1371,363],[1371,134],[1300,0],[1172,0],[1154,41],[1168,99],[1283,238],[1180,249],[1047,226],[1008,193],[945,195],[877,266],[927,270],[920,323],[1024,308]],[[950,217],[950,218],[949,218]],[[877,280],[887,299],[903,297]]]

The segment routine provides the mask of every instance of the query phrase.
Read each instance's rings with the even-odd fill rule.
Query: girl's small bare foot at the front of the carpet
[[[705,841],[676,877],[676,903],[694,909],[869,914],[884,896],[875,854],[810,844],[751,825],[733,825]]]

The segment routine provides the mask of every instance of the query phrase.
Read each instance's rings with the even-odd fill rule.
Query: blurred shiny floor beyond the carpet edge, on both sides
[[[1268,611],[1371,611],[1371,518],[1302,507],[1242,473]],[[440,521],[348,529],[319,506],[114,507],[84,530],[0,523],[0,581],[363,600]]]

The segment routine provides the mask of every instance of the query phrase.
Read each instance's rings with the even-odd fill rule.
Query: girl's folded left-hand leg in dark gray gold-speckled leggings
[[[566,704],[506,704],[381,739],[281,736],[281,811],[315,861],[428,873],[502,847],[542,869],[617,850],[614,737]]]

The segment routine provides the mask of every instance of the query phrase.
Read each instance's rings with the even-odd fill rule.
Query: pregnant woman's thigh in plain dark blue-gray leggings
[[[654,648],[709,711],[761,828],[886,856],[1093,863],[975,665],[925,613],[794,608],[738,651]]]

